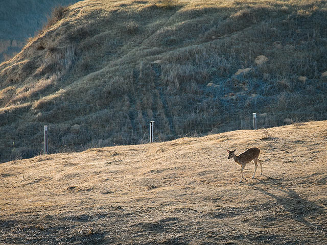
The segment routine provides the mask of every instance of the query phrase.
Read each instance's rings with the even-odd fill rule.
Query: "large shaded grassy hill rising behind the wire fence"
[[[1,161],[327,119],[327,3],[96,1],[57,8],[0,64]],[[262,119],[260,120],[263,121]],[[233,125],[233,126],[231,126]],[[21,137],[21,135],[23,137]]]

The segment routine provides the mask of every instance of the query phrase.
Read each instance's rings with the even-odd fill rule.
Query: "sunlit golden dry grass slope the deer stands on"
[[[327,244],[326,149],[316,121],[3,163],[0,243]]]

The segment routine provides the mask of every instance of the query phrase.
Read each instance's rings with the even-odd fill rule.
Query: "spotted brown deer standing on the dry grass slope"
[[[242,182],[243,179],[245,180],[245,178],[243,177],[243,169],[244,169],[245,165],[247,163],[249,163],[250,161],[252,161],[252,160],[253,160],[254,165],[255,165],[255,169],[254,169],[252,179],[254,178],[256,168],[258,167],[257,162],[260,163],[261,174],[262,174],[262,164],[261,164],[262,161],[258,158],[259,155],[260,155],[260,149],[259,148],[252,147],[250,149],[247,149],[245,152],[241,153],[238,156],[235,155],[235,150],[236,149],[234,149],[233,151],[227,150],[227,152],[229,153],[228,159],[233,158],[234,161],[236,161],[236,163],[241,166],[241,180],[240,180],[240,183]]]

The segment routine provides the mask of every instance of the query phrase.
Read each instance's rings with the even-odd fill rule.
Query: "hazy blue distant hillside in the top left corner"
[[[42,29],[47,17],[56,6],[66,6],[77,0],[10,0],[2,1],[0,8],[0,63],[20,52]]]

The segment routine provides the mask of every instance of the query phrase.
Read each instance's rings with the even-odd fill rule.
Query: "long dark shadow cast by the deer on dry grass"
[[[265,175],[264,175],[265,176]],[[318,229],[322,232],[326,232],[320,225],[309,222],[306,217],[318,216],[324,213],[324,208],[318,204],[302,198],[295,190],[281,186],[280,181],[282,179],[274,179],[266,176],[267,179],[258,180],[256,184],[244,183],[256,190],[259,190],[263,194],[276,200],[277,204],[281,205],[287,215],[306,225],[308,228]],[[259,185],[258,185],[259,184]],[[278,186],[279,184],[279,186]],[[263,188],[262,185],[268,186]],[[278,194],[282,192],[282,194]]]

